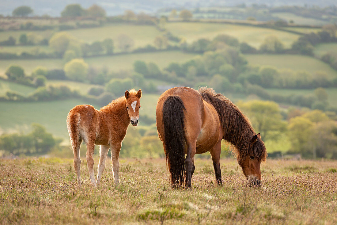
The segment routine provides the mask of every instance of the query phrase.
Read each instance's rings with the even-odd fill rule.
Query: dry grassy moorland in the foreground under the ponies
[[[95,159],[95,165],[97,166]],[[276,161],[262,166],[261,188],[248,187],[235,160],[196,159],[192,190],[172,190],[163,159],[120,160],[114,187],[106,163],[101,186],[82,187],[70,159],[0,161],[1,224],[336,224],[336,161]]]

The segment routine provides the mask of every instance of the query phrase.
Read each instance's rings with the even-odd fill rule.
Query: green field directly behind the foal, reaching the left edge
[[[143,93],[141,116],[148,115],[155,118],[158,97],[157,94]],[[74,106],[82,104],[88,104],[88,102],[78,99],[48,102],[0,102],[0,118],[2,118],[0,119],[0,129],[5,131],[25,130],[30,127],[31,123],[40,123],[55,136],[68,140],[67,115]],[[97,105],[94,107],[100,108]],[[140,125],[142,125],[141,118]]]

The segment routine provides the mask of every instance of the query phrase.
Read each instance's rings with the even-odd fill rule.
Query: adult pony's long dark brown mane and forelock
[[[216,93],[212,88],[200,87],[198,91],[202,98],[217,111],[223,129],[222,139],[231,143],[239,164],[242,163],[250,154],[251,139],[255,135],[249,119],[231,100]],[[266,160],[267,150],[260,138],[257,138],[252,150],[258,160]]]

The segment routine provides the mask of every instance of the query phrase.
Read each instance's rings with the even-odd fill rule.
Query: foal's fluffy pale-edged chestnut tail
[[[79,134],[79,128],[78,124],[80,122],[81,116],[79,113],[73,113],[70,110],[68,116],[67,116],[67,127],[68,127],[68,132],[70,136],[70,143],[72,150],[75,151],[81,144],[80,142],[80,134]]]

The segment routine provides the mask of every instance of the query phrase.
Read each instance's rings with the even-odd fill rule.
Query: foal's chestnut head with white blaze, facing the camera
[[[134,89],[130,91],[125,91],[126,99],[126,109],[131,119],[131,124],[136,126],[138,124],[139,118],[139,108],[141,108],[140,98],[142,96],[142,90],[135,91]]]

